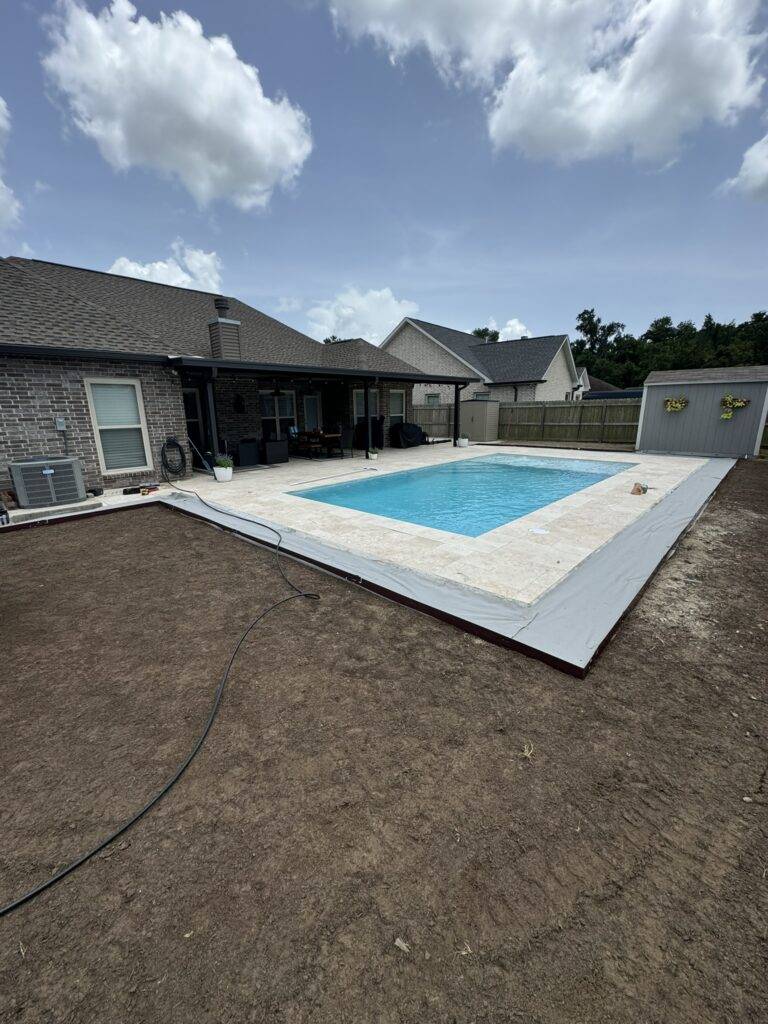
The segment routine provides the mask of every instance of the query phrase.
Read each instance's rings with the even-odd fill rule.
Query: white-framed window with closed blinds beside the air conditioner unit
[[[86,380],[88,408],[102,473],[152,469],[141,385],[127,378]]]

